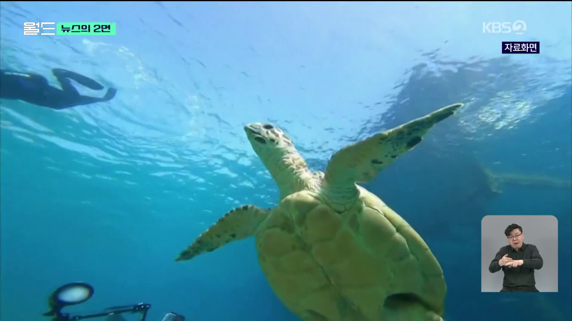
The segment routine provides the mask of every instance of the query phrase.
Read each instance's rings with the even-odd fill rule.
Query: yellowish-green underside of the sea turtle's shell
[[[443,271],[415,230],[377,196],[336,212],[319,193],[285,197],[257,230],[260,266],[278,298],[303,320],[384,320],[409,298],[443,314]]]

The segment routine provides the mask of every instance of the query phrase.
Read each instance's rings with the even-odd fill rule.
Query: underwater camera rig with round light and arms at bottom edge
[[[73,306],[76,304],[84,303],[89,300],[93,295],[93,287],[85,282],[73,282],[65,284],[55,290],[48,298],[48,306],[50,311],[43,314],[43,316],[53,316],[51,321],[69,321],[81,320],[89,318],[100,318],[102,316],[111,316],[122,313],[140,313],[141,321],[145,321],[147,311],[151,307],[149,303],[137,303],[127,306],[114,306],[104,310],[104,312],[89,314],[89,315],[76,315],[70,316],[67,313],[62,313],[62,308],[66,306]],[[178,315],[174,312],[169,312],[163,316],[162,321],[185,321],[185,317]]]

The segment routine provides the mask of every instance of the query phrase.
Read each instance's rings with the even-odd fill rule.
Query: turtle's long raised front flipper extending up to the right
[[[329,160],[325,180],[329,186],[352,188],[356,182],[371,182],[395,159],[418,145],[436,123],[455,114],[462,103],[443,107],[339,150]]]

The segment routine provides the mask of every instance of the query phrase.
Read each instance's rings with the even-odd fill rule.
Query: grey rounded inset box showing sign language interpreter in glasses
[[[481,292],[558,292],[553,215],[487,215],[480,235]]]

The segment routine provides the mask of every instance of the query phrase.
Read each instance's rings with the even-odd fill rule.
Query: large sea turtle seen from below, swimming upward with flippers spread
[[[443,107],[346,146],[325,172],[309,170],[276,126],[245,126],[279,187],[279,203],[234,208],[175,260],[253,236],[273,291],[303,320],[443,320],[446,283],[438,260],[401,216],[356,182],[371,182],[462,106]]]

